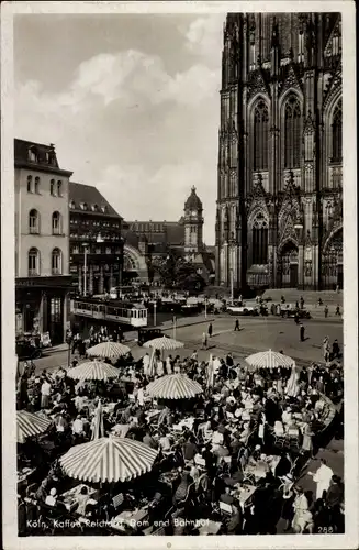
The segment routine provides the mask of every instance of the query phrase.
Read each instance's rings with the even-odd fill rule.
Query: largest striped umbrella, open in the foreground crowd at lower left
[[[100,438],[72,447],[59,462],[70,477],[85,482],[125,482],[153,468],[157,451],[133,439]]]

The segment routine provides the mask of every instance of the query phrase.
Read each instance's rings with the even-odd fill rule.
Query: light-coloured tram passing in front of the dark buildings
[[[74,316],[93,321],[125,324],[134,329],[147,327],[147,309],[136,304],[78,298],[71,300],[70,308]]]

